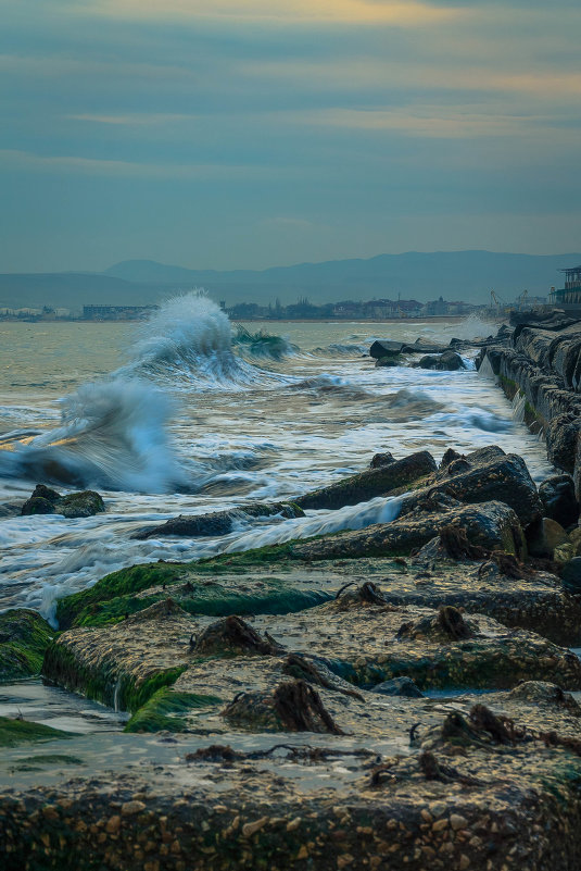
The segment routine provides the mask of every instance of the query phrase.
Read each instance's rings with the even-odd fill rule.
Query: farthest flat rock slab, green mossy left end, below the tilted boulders
[[[90,590],[64,599],[59,617],[65,618],[63,627],[73,622],[106,625],[167,597],[191,614],[286,613],[334,598],[345,583],[372,581],[392,605],[454,605],[507,626],[539,632],[556,644],[581,645],[581,597],[569,595],[555,575],[531,571],[515,578],[493,561],[428,557],[311,563],[280,559],[276,575],[263,551],[254,561],[252,551],[247,551],[205,563],[151,563],[116,572]],[[125,593],[127,586],[136,592]]]

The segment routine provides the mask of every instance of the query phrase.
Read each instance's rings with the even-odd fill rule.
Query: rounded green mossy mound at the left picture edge
[[[0,682],[40,674],[42,657],[54,630],[36,611],[0,614]]]

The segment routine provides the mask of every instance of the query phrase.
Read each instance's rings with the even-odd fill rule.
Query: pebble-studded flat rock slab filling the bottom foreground
[[[495,701],[522,717],[522,701]],[[538,729],[548,717],[561,736],[577,733],[566,706],[529,708]],[[460,746],[444,734],[447,717],[401,751],[328,735],[287,735],[278,750],[278,735],[225,735],[222,747],[162,737],[143,751],[143,736],[118,736],[117,761],[101,752],[90,775],[39,787],[12,774],[0,795],[3,868],[578,871],[579,756],[532,735],[498,745],[481,732]]]

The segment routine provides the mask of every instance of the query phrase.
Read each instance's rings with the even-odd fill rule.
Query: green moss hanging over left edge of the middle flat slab
[[[130,674],[119,674],[114,662],[91,669],[80,663],[63,644],[51,644],[45,655],[43,673],[60,686],[80,693],[87,698],[116,707],[130,713],[137,711],[163,686],[175,684],[185,665],[163,669],[136,683]]]

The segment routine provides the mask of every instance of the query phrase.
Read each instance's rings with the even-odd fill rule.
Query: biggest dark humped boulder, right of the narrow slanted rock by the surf
[[[468,453],[439,471],[427,486],[404,498],[400,517],[437,494],[462,502],[505,502],[515,511],[522,527],[542,514],[542,503],[525,460],[516,453],[505,455],[495,447]]]

